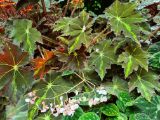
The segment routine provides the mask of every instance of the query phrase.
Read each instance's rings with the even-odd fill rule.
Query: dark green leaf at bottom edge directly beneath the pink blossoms
[[[73,116],[63,116],[62,120],[78,120],[79,117],[84,114],[82,108],[78,108]]]

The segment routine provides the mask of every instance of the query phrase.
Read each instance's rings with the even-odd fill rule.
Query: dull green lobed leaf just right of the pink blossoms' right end
[[[121,92],[128,91],[127,82],[118,76],[114,76],[112,82],[107,82],[102,85],[102,87],[104,87],[109,94],[115,96],[118,96]]]

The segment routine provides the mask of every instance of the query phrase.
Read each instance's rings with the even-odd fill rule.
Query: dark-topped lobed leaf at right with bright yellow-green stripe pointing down
[[[138,45],[128,46],[125,52],[119,55],[118,62],[124,68],[125,78],[137,71],[139,66],[148,71],[148,55]]]

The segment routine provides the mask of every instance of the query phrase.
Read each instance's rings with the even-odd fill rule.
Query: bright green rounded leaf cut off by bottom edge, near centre
[[[99,116],[94,112],[84,113],[78,120],[100,120]]]

